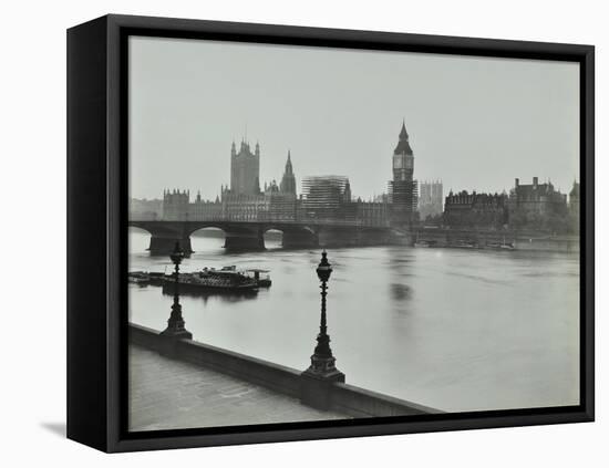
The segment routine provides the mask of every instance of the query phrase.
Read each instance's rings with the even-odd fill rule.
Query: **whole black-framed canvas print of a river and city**
[[[68,436],[593,420],[593,48],[68,31]]]

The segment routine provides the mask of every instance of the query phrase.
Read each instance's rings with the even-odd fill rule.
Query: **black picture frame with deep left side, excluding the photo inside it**
[[[580,65],[580,405],[151,433],[125,430],[126,40],[131,34],[571,61]],[[68,31],[68,437],[132,451],[591,422],[595,417],[591,45],[105,15]]]

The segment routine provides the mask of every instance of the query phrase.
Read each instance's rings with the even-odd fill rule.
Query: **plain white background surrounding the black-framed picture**
[[[0,177],[3,466],[606,466],[609,353],[609,33],[600,1],[92,0],[2,4]],[[595,424],[105,456],[61,436],[65,422],[65,29],[114,12],[597,46],[597,395]],[[7,222],[8,220],[8,222]],[[603,240],[605,239],[605,240]],[[602,266],[600,263],[603,263]],[[17,283],[17,285],[16,285]],[[22,301],[28,298],[27,302]],[[7,302],[8,301],[8,302]],[[27,343],[25,343],[27,340]]]

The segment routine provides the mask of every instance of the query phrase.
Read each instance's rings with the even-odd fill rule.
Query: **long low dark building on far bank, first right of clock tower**
[[[444,200],[443,223],[458,229],[502,229],[507,223],[507,195],[451,191]]]

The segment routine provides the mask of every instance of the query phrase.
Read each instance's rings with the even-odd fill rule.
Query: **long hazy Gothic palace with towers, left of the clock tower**
[[[405,132],[405,128],[404,128]],[[407,152],[406,152],[407,153]],[[405,156],[409,156],[405,154]],[[406,157],[407,159],[407,157]],[[167,221],[349,221],[362,226],[389,226],[390,196],[382,195],[373,201],[353,199],[351,185],[344,176],[314,176],[302,180],[303,193],[298,196],[291,153],[288,157],[281,181],[265,183],[259,188],[258,174],[260,147],[255,153],[249,144],[241,142],[241,149],[231,148],[230,186],[220,186],[220,195],[214,201],[204,200],[200,193],[190,201],[189,190],[164,190],[163,200],[156,201],[153,210],[141,200],[132,200],[134,219],[162,219]],[[401,176],[400,176],[401,177]],[[407,179],[407,177],[406,177]],[[411,186],[410,197],[416,197]],[[398,198],[400,200],[400,197]],[[138,204],[140,202],[140,204]],[[148,204],[149,205],[149,204]],[[400,205],[400,201],[396,204]],[[146,211],[146,215],[141,215]],[[151,211],[151,212],[148,212]],[[409,219],[413,212],[406,209]]]

